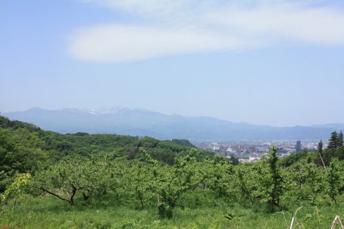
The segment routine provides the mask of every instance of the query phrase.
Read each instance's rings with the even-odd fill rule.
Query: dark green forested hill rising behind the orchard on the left
[[[61,134],[0,116],[0,171],[11,168],[20,172],[30,171],[38,162],[54,162],[67,155],[111,152],[134,159],[141,146],[153,158],[166,164],[173,164],[175,157],[185,155],[195,147],[188,140],[162,141],[115,134]],[[213,156],[211,152],[197,152],[199,157]]]

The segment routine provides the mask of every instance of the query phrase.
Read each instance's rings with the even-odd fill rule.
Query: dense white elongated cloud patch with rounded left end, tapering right
[[[78,30],[73,35],[71,52],[85,61],[119,62],[247,46],[240,39],[196,30],[98,25]]]

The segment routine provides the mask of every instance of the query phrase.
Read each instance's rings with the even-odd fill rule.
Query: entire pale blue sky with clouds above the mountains
[[[0,1],[0,111],[344,122],[341,0]]]

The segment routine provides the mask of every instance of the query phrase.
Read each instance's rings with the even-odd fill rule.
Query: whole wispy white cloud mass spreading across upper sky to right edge
[[[70,36],[69,51],[84,61],[138,61],[281,42],[344,45],[344,9],[324,1],[83,1],[140,19],[78,28]]]

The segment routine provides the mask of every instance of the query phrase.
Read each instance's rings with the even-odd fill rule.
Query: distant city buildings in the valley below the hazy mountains
[[[280,140],[280,141],[228,141],[228,142],[193,142],[195,146],[206,151],[213,151],[224,157],[237,157],[239,162],[256,162],[264,155],[267,155],[270,146],[278,148],[277,155],[286,157],[299,151],[316,151],[316,141],[301,140]],[[327,141],[323,142],[323,148],[327,147]]]

